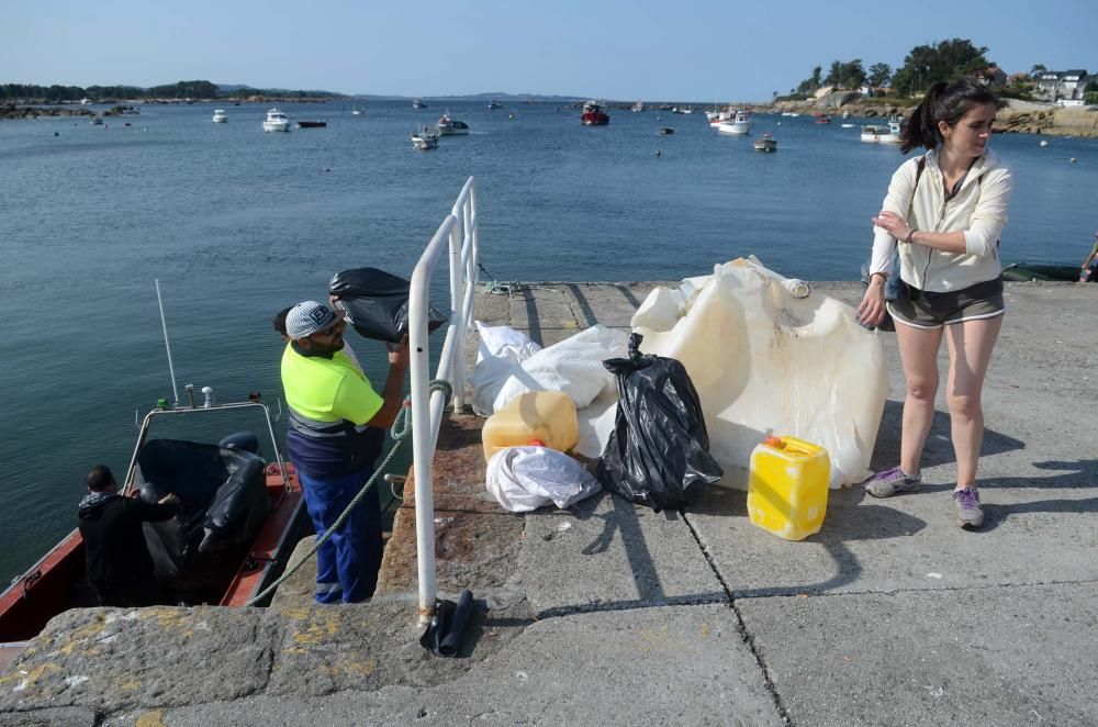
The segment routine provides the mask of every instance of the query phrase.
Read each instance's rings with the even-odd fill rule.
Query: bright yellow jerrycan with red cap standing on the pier
[[[796,437],[766,437],[751,452],[751,522],[786,540],[819,533],[830,469],[831,459],[822,447]]]

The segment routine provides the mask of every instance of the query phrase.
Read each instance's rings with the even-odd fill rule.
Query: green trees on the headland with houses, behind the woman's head
[[[904,65],[895,72],[886,63],[875,63],[866,71],[861,58],[845,63],[834,60],[827,76],[824,76],[821,66],[816,66],[811,76],[800,81],[796,88],[789,89],[789,94],[783,98],[806,99],[817,89],[827,86],[848,89],[862,86],[888,88],[893,96],[918,97],[939,81],[954,81],[995,66],[986,54],[987,48],[977,47],[967,38],[955,37],[911,48],[904,58]],[[1034,70],[1038,68],[1043,70],[1044,67],[1034,66]],[[1016,82],[1000,94],[1028,98],[1028,90],[1024,82]]]

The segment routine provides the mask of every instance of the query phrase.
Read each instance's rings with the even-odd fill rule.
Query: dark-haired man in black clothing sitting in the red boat
[[[148,605],[156,600],[153,559],[145,546],[142,523],[166,521],[176,514],[179,497],[159,503],[123,497],[111,470],[97,465],[88,472],[88,494],[77,511],[88,562],[88,583],[101,606]]]

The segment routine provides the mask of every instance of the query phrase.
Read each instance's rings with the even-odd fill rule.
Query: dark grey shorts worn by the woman
[[[899,294],[888,301],[897,323],[916,328],[941,328],[953,323],[1002,315],[1002,278],[977,282],[961,290],[935,293],[899,281]]]

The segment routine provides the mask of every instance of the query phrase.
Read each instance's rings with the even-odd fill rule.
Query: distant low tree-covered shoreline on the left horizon
[[[216,83],[210,81],[178,81],[165,86],[139,88],[136,86],[35,86],[32,83],[0,83],[0,100],[19,101],[35,100],[51,103],[65,101],[81,101],[88,99],[94,103],[115,101],[119,99],[247,99],[253,96],[276,96],[291,99],[337,98],[338,93],[328,91],[287,91],[257,88],[237,88],[232,91],[221,91]]]

